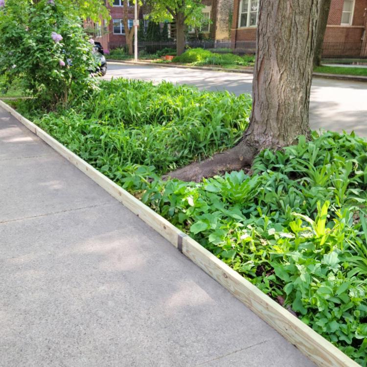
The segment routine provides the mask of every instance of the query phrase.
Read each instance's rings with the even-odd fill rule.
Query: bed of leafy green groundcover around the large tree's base
[[[366,140],[314,132],[251,175],[161,180],[233,146],[250,111],[249,96],[114,80],[28,116],[366,367]]]

